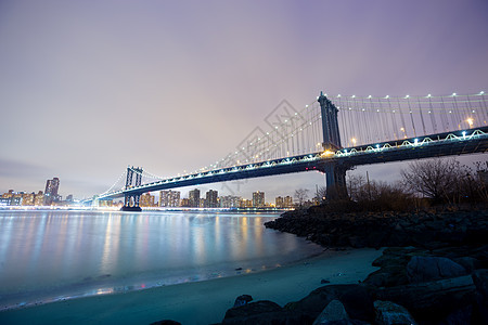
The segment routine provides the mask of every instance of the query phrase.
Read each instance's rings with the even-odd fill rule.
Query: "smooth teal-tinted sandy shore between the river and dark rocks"
[[[326,251],[259,273],[10,310],[0,313],[0,324],[150,324],[162,320],[219,323],[243,294],[255,301],[271,300],[284,306],[323,286],[322,278],[331,284],[358,283],[377,269],[371,263],[381,253],[371,248]]]

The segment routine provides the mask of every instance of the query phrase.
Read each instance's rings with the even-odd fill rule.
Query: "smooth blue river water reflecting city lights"
[[[258,272],[320,253],[278,214],[0,210],[0,310]]]

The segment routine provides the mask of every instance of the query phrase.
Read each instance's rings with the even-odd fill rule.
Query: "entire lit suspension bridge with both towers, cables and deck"
[[[106,192],[87,199],[125,198],[138,211],[146,192],[318,170],[328,199],[347,197],[346,171],[356,166],[485,153],[488,109],[484,91],[435,96],[328,95],[301,109],[283,102],[236,150],[215,164],[177,177],[128,167]]]

